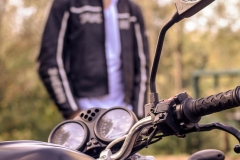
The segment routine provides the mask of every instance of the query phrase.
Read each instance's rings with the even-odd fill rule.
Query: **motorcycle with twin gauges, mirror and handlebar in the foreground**
[[[240,106],[240,86],[233,90],[194,100],[186,92],[159,100],[155,78],[164,37],[175,23],[202,10],[214,0],[176,0],[177,12],[162,28],[150,76],[150,103],[144,106],[145,118],[123,107],[92,108],[72,120],[58,124],[48,142],[22,140],[0,143],[4,160],[153,160],[141,156],[140,150],[168,136],[184,138],[193,132],[219,129],[232,134],[240,142],[240,132],[222,123],[199,124],[202,116]],[[240,153],[240,145],[234,147]],[[224,160],[219,150],[194,153],[189,160]]]

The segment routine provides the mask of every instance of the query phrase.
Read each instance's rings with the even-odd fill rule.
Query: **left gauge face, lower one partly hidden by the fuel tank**
[[[76,122],[63,123],[53,132],[50,142],[76,150],[84,142],[86,132],[82,125]]]

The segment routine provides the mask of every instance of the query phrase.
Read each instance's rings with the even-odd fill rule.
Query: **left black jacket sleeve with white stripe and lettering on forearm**
[[[67,72],[64,49],[68,25],[68,0],[54,0],[42,35],[38,73],[64,118],[77,111]]]

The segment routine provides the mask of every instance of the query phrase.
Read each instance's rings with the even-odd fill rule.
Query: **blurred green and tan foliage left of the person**
[[[44,1],[37,1],[30,6],[46,5]],[[0,23],[0,140],[47,141],[61,116],[36,72],[35,59],[41,38],[39,26],[44,25],[43,19],[38,18],[43,17],[43,11],[35,8],[34,14],[20,17],[22,23],[16,25],[20,9],[8,3],[4,9],[6,14],[2,20],[6,23]]]

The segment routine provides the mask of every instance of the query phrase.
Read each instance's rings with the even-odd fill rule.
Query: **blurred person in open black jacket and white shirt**
[[[65,119],[114,106],[143,116],[148,40],[141,10],[131,0],[54,0],[37,61]]]

